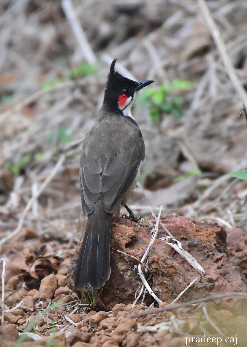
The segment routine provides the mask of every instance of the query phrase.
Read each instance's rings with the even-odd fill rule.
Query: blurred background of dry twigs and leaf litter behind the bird
[[[207,5],[247,90],[247,2]],[[146,158],[129,207],[246,228],[247,184],[225,176],[247,168],[242,100],[197,1],[2,0],[0,14],[2,237],[24,216],[43,241],[78,242],[80,149],[113,58],[155,80],[132,110]]]

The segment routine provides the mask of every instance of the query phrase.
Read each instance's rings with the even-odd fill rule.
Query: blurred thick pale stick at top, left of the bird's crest
[[[87,37],[82,29],[82,26],[79,23],[71,0],[62,0],[62,8],[78,42],[80,51],[82,52],[86,61],[88,62],[88,64],[96,64],[97,59],[90,47],[90,44],[87,41]]]

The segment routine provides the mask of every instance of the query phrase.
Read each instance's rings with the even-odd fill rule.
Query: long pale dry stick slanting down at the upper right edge
[[[229,58],[227,49],[225,47],[225,43],[222,39],[221,33],[215,24],[212,15],[210,13],[210,10],[207,7],[205,0],[198,0],[198,5],[201,9],[202,15],[204,16],[204,19],[206,20],[207,26],[211,31],[211,34],[214,39],[214,43],[219,51],[219,54],[221,56],[221,59],[225,65],[225,69],[228,73],[228,76],[236,90],[236,92],[240,95],[243,102],[247,105],[247,93],[241,83],[241,81],[238,78],[238,75],[236,73],[236,70],[231,62],[231,59]]]

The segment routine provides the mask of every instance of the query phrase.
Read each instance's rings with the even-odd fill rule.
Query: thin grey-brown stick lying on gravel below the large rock
[[[181,303],[181,304],[175,304],[175,305],[168,304],[167,306],[164,306],[164,307],[161,307],[161,308],[155,308],[153,310],[146,310],[143,313],[132,314],[132,315],[127,316],[127,317],[128,318],[136,318],[136,317],[140,317],[140,316],[146,316],[146,315],[152,314],[152,313],[170,311],[170,310],[174,310],[176,308],[186,307],[188,305],[200,304],[200,303],[203,303],[204,301],[208,301],[208,300],[224,299],[224,298],[228,298],[228,297],[231,297],[231,296],[242,296],[242,297],[246,297],[247,298],[247,293],[241,293],[241,292],[236,291],[236,292],[232,292],[232,293],[225,293],[225,294],[218,294],[218,295],[213,295],[213,296],[206,296],[205,298],[191,300],[191,301],[188,301],[187,303]]]

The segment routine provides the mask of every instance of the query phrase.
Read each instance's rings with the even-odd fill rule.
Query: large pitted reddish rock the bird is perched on
[[[152,223],[155,220],[150,218]],[[177,238],[182,247],[187,250],[202,265],[205,276],[201,276],[184,258],[182,258],[166,241],[160,240],[167,236],[159,228],[157,238],[148,253],[148,272],[152,274],[152,289],[161,301],[172,302],[185,287],[195,278],[193,288],[181,297],[180,301],[189,301],[208,295],[232,291],[247,291],[247,281],[240,269],[233,264],[227,254],[226,232],[216,223],[190,220],[185,217],[167,215],[161,217],[161,222],[171,234]],[[137,263],[129,256],[117,252],[123,251],[138,259],[143,256],[151,240],[152,226],[147,223],[138,224],[119,218],[114,220],[111,229],[111,277],[103,288],[101,301],[107,309],[117,303],[133,302],[134,294],[140,285]],[[68,286],[74,289],[74,271],[78,249],[73,256],[68,269]],[[240,298],[228,300],[230,306],[240,304],[235,309],[244,307]],[[153,301],[146,296],[146,303]],[[229,308],[229,306],[225,306]],[[118,308],[116,308],[116,311]],[[121,310],[120,310],[121,311]]]

